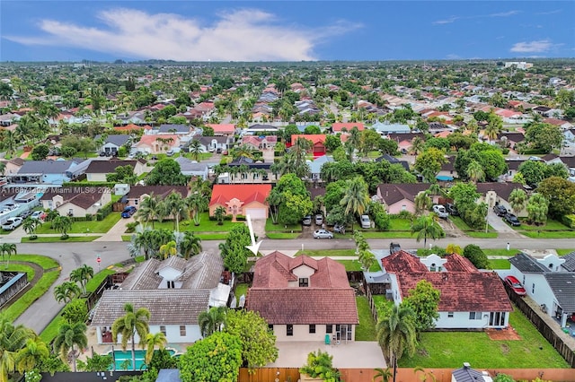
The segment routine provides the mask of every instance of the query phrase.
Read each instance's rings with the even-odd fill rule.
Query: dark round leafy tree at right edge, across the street
[[[554,219],[575,211],[575,183],[558,177],[546,178],[537,192],[549,202],[549,215]]]

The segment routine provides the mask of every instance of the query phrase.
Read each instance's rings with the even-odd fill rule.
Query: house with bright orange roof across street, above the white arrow
[[[213,216],[217,207],[224,207],[232,216],[250,215],[252,219],[268,219],[266,199],[271,185],[214,185],[209,201],[209,215]]]

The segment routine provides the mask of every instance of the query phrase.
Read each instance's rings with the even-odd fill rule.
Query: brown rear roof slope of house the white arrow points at
[[[355,291],[329,288],[252,288],[246,308],[270,325],[358,324]]]

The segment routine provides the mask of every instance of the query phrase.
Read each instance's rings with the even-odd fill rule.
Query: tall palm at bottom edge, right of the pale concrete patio
[[[417,334],[413,319],[411,308],[403,307],[400,304],[394,305],[385,316],[380,318],[376,325],[377,342],[394,366],[394,381],[397,360],[402,358],[404,352],[407,352],[410,357],[415,352]]]

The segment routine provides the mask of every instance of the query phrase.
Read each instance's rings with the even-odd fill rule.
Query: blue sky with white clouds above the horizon
[[[1,0],[2,61],[574,57],[575,2]]]

